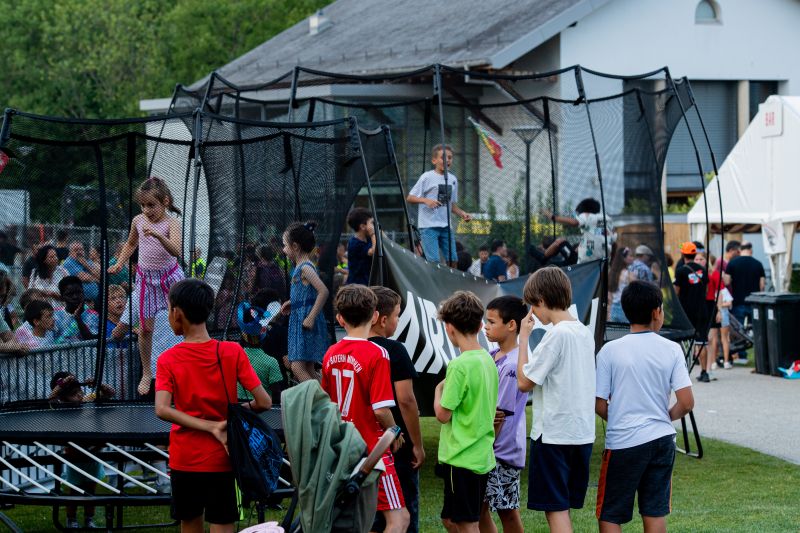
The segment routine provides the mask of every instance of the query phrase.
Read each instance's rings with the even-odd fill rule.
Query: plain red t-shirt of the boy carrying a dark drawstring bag
[[[156,390],[172,393],[175,409],[205,420],[227,420],[228,396],[222,388],[217,363],[217,341],[182,342],[173,346],[156,363]],[[261,381],[241,346],[219,343],[219,357],[225,386],[236,401],[236,382],[253,390]],[[186,472],[228,472],[231,462],[211,433],[172,425],[169,434],[169,466]]]

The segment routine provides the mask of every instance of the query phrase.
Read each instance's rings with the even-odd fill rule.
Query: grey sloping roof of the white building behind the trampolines
[[[252,86],[297,65],[343,74],[388,74],[435,63],[500,69],[609,1],[337,0],[324,9],[327,29],[311,35],[304,19],[217,72]]]

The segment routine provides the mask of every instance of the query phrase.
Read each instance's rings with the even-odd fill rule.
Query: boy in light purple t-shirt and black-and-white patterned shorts
[[[503,531],[522,532],[519,514],[519,479],[525,468],[525,404],[528,394],[517,387],[519,326],[528,308],[516,296],[495,298],[486,306],[486,338],[499,348],[492,351],[499,375],[495,414],[494,457],[481,508],[480,530],[497,531],[492,512],[497,512]]]

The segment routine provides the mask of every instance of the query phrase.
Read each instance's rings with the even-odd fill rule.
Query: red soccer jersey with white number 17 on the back
[[[343,338],[325,352],[322,388],[339,406],[342,420],[356,426],[372,451],[383,435],[375,409],[394,407],[386,350],[367,339]]]

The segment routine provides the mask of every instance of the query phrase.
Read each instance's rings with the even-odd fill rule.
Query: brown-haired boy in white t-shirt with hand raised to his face
[[[551,531],[572,531],[594,443],[594,334],[569,313],[572,287],[559,268],[534,272],[523,299],[531,314],[520,324],[517,385],[533,391],[528,509],[544,511]],[[552,328],[528,361],[534,316]]]

